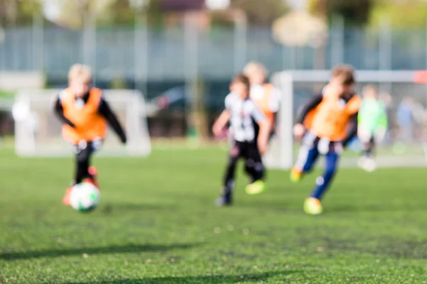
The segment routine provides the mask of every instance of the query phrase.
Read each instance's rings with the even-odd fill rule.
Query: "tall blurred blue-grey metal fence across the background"
[[[420,70],[427,67],[427,28],[394,30],[332,26],[325,46],[294,48],[276,43],[269,28],[95,29],[6,27],[0,70],[41,70],[64,77],[74,62],[92,65],[96,77],[183,80],[193,65],[199,76],[223,80],[247,60],[270,72],[328,69],[347,62],[358,70]]]

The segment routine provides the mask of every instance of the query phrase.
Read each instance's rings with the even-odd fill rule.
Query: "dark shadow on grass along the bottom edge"
[[[144,278],[144,279],[120,279],[120,280],[102,280],[100,282],[70,282],[65,284],[191,284],[191,283],[263,283],[268,278],[289,275],[295,271],[273,271],[267,273],[251,273],[237,275],[199,275],[199,276],[182,276],[182,277],[162,277],[162,278]]]

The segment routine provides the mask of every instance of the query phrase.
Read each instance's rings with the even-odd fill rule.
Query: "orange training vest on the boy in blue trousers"
[[[354,95],[345,104],[339,94],[327,86],[323,92],[322,102],[305,118],[305,127],[320,138],[340,141],[347,135],[347,124],[350,117],[359,111],[362,99]]]

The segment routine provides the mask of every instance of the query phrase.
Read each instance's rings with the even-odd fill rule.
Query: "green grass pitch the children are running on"
[[[270,171],[248,196],[216,208],[226,153],[156,150],[98,158],[102,203],[61,204],[68,159],[0,151],[0,283],[427,283],[426,170],[342,170],[324,206]]]

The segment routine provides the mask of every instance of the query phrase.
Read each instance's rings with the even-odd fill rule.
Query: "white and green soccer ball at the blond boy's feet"
[[[71,207],[77,211],[88,212],[100,202],[100,190],[93,183],[81,182],[70,192]]]

